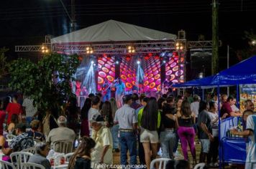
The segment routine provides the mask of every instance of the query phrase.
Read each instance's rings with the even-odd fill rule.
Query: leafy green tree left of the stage
[[[27,59],[17,59],[9,69],[9,87],[31,97],[42,110],[60,108],[72,96],[70,80],[80,64],[78,55],[52,53],[45,55],[37,64]],[[55,82],[55,79],[60,79]]]

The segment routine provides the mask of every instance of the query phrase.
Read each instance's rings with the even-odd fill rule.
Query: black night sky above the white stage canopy
[[[63,0],[70,13],[70,0]],[[247,47],[244,31],[255,29],[255,0],[219,0],[219,39],[232,50]],[[59,0],[1,1],[0,47],[11,49],[9,58],[17,57],[15,45],[42,44],[46,34],[59,36],[70,32],[70,20]],[[76,29],[114,19],[171,34],[186,30],[188,40],[204,34],[211,40],[210,0],[76,0]],[[231,55],[232,57],[232,55]],[[231,58],[231,62],[237,62]]]

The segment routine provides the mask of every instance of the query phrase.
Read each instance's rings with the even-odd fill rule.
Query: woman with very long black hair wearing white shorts
[[[142,113],[140,142],[142,143],[145,151],[145,161],[147,168],[150,168],[150,147],[152,149],[153,160],[156,158],[157,155],[157,129],[160,127],[161,120],[161,114],[158,110],[156,99],[154,97],[150,97],[150,101],[147,103],[145,108],[142,108],[142,110],[140,110],[139,114],[140,113]]]

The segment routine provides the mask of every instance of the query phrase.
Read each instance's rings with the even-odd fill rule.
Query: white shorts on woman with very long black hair
[[[157,131],[142,129],[140,132],[140,143],[158,143]]]

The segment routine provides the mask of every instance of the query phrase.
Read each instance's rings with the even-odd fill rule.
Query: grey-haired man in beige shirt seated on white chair
[[[47,143],[53,143],[60,140],[74,141],[76,134],[73,130],[66,127],[67,119],[64,116],[58,117],[58,128],[50,130],[49,135],[47,136]],[[55,151],[59,152],[58,145],[55,148]]]

